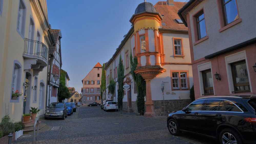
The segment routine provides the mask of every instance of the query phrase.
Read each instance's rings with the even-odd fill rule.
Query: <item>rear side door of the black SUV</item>
[[[218,125],[225,122],[225,114],[223,100],[207,99],[200,113],[200,133],[215,136]]]

